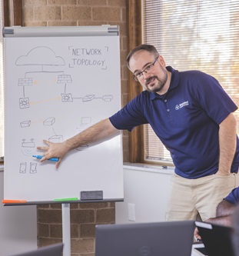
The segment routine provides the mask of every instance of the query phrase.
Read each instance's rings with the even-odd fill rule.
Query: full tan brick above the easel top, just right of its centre
[[[62,6],[63,20],[91,20],[91,7]]]

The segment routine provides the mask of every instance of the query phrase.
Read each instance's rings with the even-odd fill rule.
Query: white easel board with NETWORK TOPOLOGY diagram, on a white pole
[[[119,28],[6,27],[3,39],[5,204],[61,203],[68,256],[69,204],[82,191],[91,202],[123,201],[121,133],[76,148],[58,170],[32,156],[42,155],[43,139],[65,141],[121,108]]]

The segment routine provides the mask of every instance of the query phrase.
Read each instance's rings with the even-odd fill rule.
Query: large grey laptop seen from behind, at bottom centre
[[[95,256],[191,256],[194,221],[97,224]]]

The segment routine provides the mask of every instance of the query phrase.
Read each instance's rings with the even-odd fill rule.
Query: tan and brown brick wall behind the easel
[[[122,105],[127,102],[127,0],[23,0],[22,4],[25,26],[120,25]],[[124,161],[128,161],[128,150],[124,131]],[[94,255],[97,223],[115,223],[115,203],[71,204],[71,256]],[[61,204],[38,205],[38,246],[61,238]]]

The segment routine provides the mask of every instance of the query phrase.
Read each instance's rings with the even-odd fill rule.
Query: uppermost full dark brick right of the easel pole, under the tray
[[[72,210],[71,223],[92,223],[95,222],[94,210]]]

